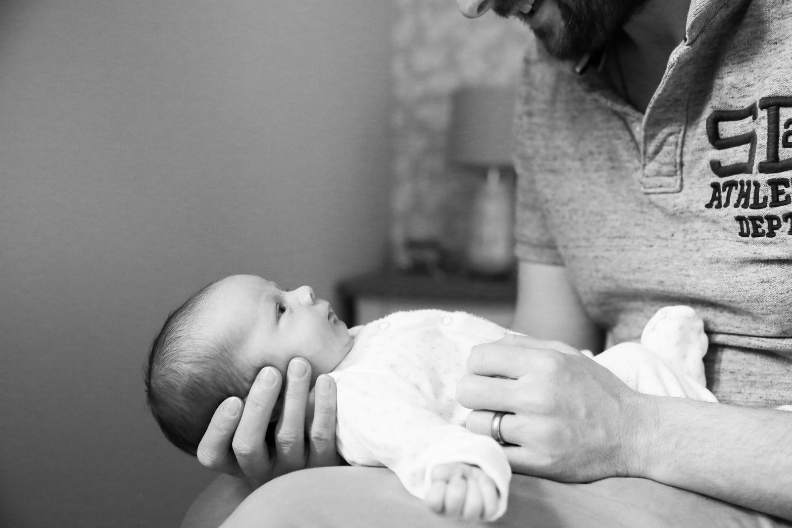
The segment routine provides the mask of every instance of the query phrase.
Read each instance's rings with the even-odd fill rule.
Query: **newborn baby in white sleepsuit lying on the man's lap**
[[[504,514],[511,469],[501,445],[465,428],[455,400],[470,348],[507,331],[464,312],[397,312],[347,330],[308,286],[284,291],[234,275],[196,293],[154,340],[146,375],[149,407],[166,437],[195,455],[215,408],[244,397],[267,365],[311,366],[311,386],[337,384],[337,448],[352,465],[386,466],[405,488],[442,512],[451,478],[466,480],[474,516]],[[611,347],[593,361],[626,385],[663,396],[715,401],[704,384],[703,323],[691,308],[663,308],[642,344]],[[475,495],[470,499],[471,493]],[[463,511],[463,508],[455,508]]]

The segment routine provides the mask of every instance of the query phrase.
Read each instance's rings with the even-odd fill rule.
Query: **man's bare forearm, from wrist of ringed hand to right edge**
[[[639,476],[792,520],[792,412],[646,396]]]

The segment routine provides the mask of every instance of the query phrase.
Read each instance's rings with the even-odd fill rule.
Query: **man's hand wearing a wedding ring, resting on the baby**
[[[474,346],[457,399],[508,411],[501,437],[516,473],[588,482],[642,476],[639,407],[650,405],[604,367],[562,342],[507,335]],[[500,379],[504,377],[508,379]],[[492,411],[471,411],[467,428],[489,435]]]

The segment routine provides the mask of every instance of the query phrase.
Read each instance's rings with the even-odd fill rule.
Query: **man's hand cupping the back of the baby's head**
[[[307,409],[310,365],[302,358],[291,360],[283,412],[274,426],[275,446],[267,446],[265,437],[281,385],[278,370],[266,367],[253,382],[246,402],[233,397],[220,404],[198,446],[198,461],[246,480],[253,489],[298,469],[337,465],[333,378],[318,377],[314,407]],[[306,429],[310,430],[307,446]]]

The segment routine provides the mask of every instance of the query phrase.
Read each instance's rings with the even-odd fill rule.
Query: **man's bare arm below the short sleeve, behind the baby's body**
[[[564,266],[520,262],[512,330],[562,341],[578,350],[603,349],[603,333],[583,308]]]

